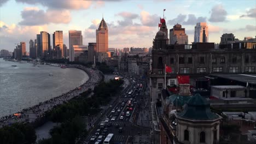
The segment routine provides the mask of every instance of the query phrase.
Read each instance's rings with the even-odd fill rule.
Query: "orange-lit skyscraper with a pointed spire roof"
[[[97,52],[108,52],[108,27],[103,18],[96,29],[96,43]]]

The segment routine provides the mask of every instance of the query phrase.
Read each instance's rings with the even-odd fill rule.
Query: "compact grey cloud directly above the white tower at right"
[[[215,5],[211,10],[211,17],[209,21],[211,22],[223,22],[226,20],[226,10],[223,8],[222,4]]]

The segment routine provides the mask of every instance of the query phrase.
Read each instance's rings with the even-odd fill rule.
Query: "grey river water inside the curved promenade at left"
[[[76,68],[61,69],[40,64],[33,67],[31,63],[8,62],[0,58],[0,117],[57,97],[88,79],[83,70]]]

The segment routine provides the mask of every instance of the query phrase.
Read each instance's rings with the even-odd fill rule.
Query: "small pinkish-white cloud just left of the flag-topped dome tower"
[[[160,21],[160,16],[150,15],[147,11],[141,11],[141,23],[144,26],[157,26]]]

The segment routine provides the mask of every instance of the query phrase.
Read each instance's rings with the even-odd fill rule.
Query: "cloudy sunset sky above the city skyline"
[[[194,41],[197,22],[207,22],[209,42],[219,43],[223,33],[235,38],[256,35],[255,0],[0,0],[0,50],[13,51],[46,31],[63,31],[68,46],[68,31],[82,31],[83,44],[96,42],[96,29],[102,19],[108,26],[109,48],[152,47],[160,17],[168,29],[176,23],[185,28],[189,43]]]

